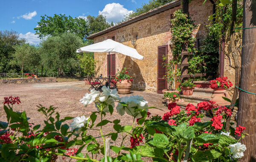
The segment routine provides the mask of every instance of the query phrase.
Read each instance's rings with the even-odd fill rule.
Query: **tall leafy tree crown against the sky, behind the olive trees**
[[[58,36],[59,34],[71,32],[85,40],[88,36],[87,28],[87,21],[82,18],[72,18],[65,14],[54,14],[53,17],[41,16],[38,27],[34,28],[34,30],[35,34],[39,34],[39,38]]]

